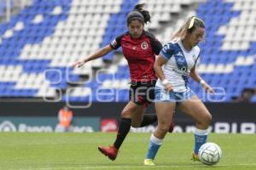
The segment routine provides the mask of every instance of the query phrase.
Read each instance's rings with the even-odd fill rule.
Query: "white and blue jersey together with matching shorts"
[[[183,102],[195,93],[188,87],[189,73],[197,64],[200,56],[200,48],[195,46],[187,51],[181,41],[169,42],[160,51],[160,55],[166,59],[162,70],[173,91],[167,93],[164,85],[158,79],[155,84],[155,101]]]

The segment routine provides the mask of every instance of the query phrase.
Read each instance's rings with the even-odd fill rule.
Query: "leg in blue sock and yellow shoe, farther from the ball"
[[[172,114],[175,110],[176,103],[174,102],[156,102],[155,110],[158,117],[158,126],[151,135],[148,146],[148,153],[144,160],[144,165],[154,165],[153,160],[159,150],[163,139],[170,128],[172,122]]]

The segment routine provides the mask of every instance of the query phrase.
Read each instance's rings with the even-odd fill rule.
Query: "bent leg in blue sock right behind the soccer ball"
[[[195,148],[192,153],[193,159],[197,160],[198,150],[207,141],[207,128],[212,121],[212,116],[207,107],[196,95],[178,105],[178,108],[185,114],[191,116],[195,122]]]

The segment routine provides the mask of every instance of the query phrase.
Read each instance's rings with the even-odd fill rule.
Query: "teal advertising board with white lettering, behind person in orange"
[[[91,133],[99,131],[100,117],[74,117],[67,132]],[[57,117],[0,116],[0,132],[66,132],[58,126]]]

